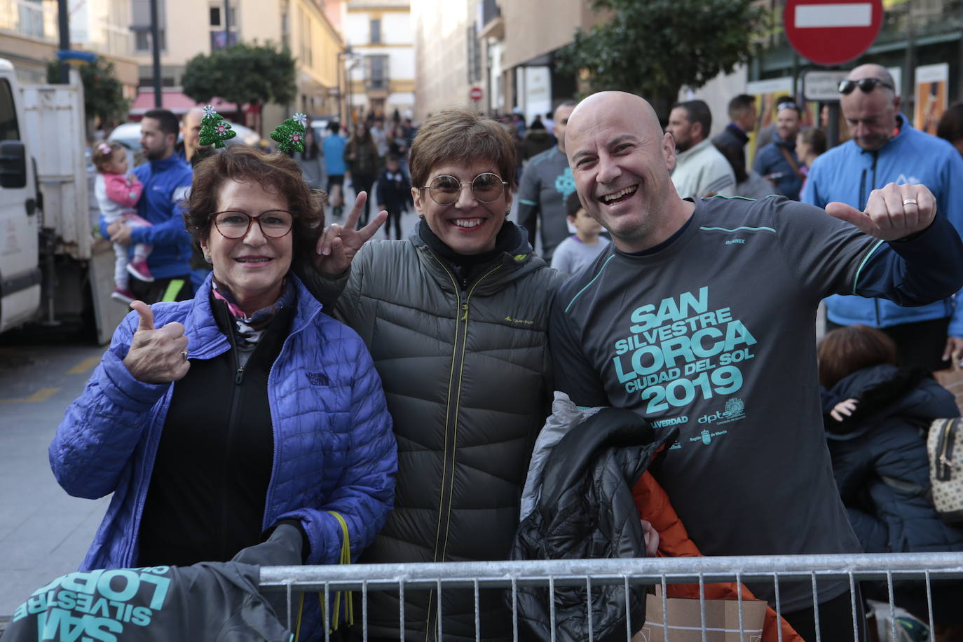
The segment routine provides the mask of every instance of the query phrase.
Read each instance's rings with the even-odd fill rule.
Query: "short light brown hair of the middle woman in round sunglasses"
[[[445,163],[469,165],[480,160],[494,163],[502,180],[510,189],[515,188],[515,143],[505,127],[471,110],[443,109],[418,127],[411,143],[411,185],[425,187],[432,167]]]

